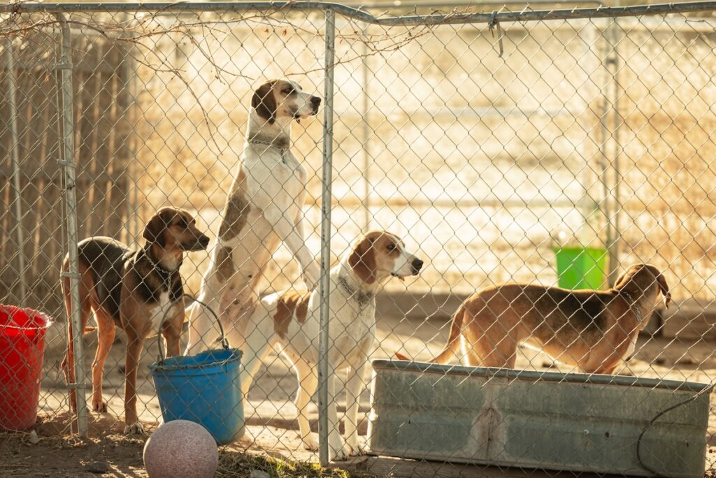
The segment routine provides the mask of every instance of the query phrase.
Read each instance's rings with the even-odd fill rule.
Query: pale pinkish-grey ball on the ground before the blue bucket
[[[213,436],[188,420],[159,426],[144,445],[143,458],[150,478],[212,478],[219,466]]]

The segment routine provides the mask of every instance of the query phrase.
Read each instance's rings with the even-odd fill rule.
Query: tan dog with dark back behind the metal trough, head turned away
[[[634,353],[666,279],[649,264],[632,265],[608,291],[508,283],[484,288],[453,316],[450,337],[432,363],[514,368],[521,344],[587,374],[611,374]],[[400,353],[401,360],[409,360]]]

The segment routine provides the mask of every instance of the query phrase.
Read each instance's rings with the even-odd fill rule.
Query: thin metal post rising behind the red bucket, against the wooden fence
[[[17,238],[17,272],[19,275],[19,286],[20,286],[20,303],[22,306],[27,306],[27,295],[26,295],[26,283],[25,283],[25,234],[22,224],[22,184],[20,182],[20,159],[19,159],[19,147],[20,140],[17,134],[17,101],[16,101],[16,87],[17,81],[15,76],[15,57],[12,54],[12,39],[8,37],[5,41],[5,67],[7,69],[7,91],[8,91],[8,106],[10,114],[10,137],[12,145],[11,150],[11,162],[12,162],[12,187],[14,189],[14,204],[15,204],[15,217],[17,223],[15,225],[15,237]]]

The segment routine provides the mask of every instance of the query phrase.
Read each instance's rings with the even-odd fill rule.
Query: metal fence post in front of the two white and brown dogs
[[[336,54],[336,15],[326,10],[326,73],[324,75],[323,110],[323,192],[321,194],[321,283],[319,294],[321,309],[319,315],[318,342],[318,434],[319,460],[321,465],[329,462],[328,453],[328,316],[330,312],[329,292],[331,289],[331,186],[333,181],[333,73]]]

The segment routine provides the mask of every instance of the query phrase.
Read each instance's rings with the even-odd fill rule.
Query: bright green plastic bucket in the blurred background
[[[606,275],[606,249],[554,248],[559,286],[566,289],[601,289]]]

